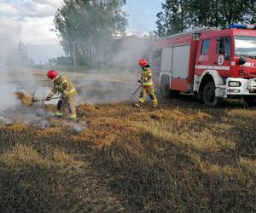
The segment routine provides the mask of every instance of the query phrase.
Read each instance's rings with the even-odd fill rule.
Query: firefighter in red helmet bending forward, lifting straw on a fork
[[[67,76],[59,75],[55,70],[49,70],[49,72],[47,72],[47,77],[53,81],[54,86],[47,96],[46,101],[49,101],[56,92],[61,93],[61,99],[58,101],[55,116],[61,118],[65,108],[67,107],[69,119],[76,120],[75,95],[77,95],[77,92],[73,83],[67,78]]]

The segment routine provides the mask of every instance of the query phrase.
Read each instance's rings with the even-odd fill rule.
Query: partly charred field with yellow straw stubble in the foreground
[[[80,105],[80,133],[0,126],[0,210],[255,212],[255,108],[187,99]]]

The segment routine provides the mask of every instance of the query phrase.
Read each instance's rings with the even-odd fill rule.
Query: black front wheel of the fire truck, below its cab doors
[[[215,89],[216,87],[213,82],[206,83],[203,89],[202,98],[208,107],[219,107],[223,102],[223,99],[215,97]]]

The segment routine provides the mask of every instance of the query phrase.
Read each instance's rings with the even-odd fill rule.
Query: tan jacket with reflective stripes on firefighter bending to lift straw
[[[55,95],[56,92],[61,93],[61,95],[77,95],[76,89],[73,83],[63,75],[59,78],[53,80],[54,86],[49,93],[49,97]]]

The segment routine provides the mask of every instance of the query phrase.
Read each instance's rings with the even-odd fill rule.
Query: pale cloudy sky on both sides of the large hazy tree
[[[0,43],[5,38],[25,43],[35,63],[64,55],[54,29],[54,15],[62,0],[0,0]],[[155,30],[156,14],[165,0],[127,0],[127,34],[143,36]]]

